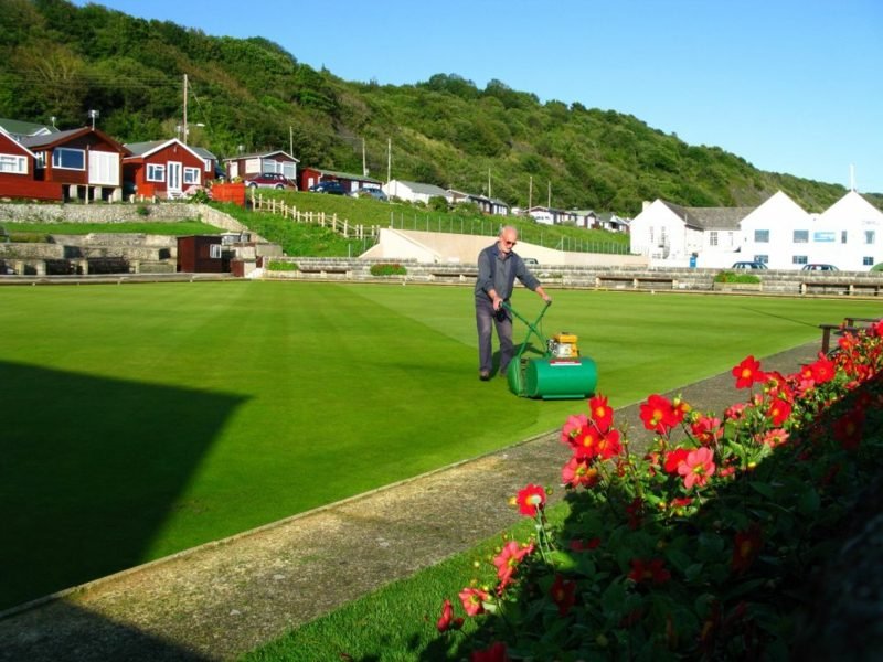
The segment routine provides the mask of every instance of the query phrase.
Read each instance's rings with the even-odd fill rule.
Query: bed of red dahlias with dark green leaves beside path
[[[566,520],[546,521],[545,488],[521,490],[535,533],[460,592],[476,632],[446,599],[442,636],[474,661],[788,659],[813,636],[808,579],[881,473],[881,334],[790,375],[748,356],[733,369],[747,398],[720,416],[649,396],[641,455],[593,397],[561,433]]]

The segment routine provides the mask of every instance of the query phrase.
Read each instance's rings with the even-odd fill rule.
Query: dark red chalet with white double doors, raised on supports
[[[28,136],[36,157],[35,180],[62,185],[64,199],[123,200],[123,157],[129,150],[107,134],[83,127]]]

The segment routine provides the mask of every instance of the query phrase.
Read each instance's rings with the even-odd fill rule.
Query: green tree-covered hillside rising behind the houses
[[[488,192],[506,202],[635,215],[641,201],[755,205],[783,190],[821,211],[845,190],[755,169],[640,119],[574,103],[541,104],[456,74],[414,85],[342,81],[279,45],[206,35],[65,0],[0,0],[0,117],[98,126],[124,142],[175,135],[189,95],[189,141],[220,157],[294,150],[301,164]],[[204,125],[204,126],[198,126]],[[531,189],[532,181],[532,189]],[[531,192],[532,191],[532,192]],[[871,197],[875,204],[881,196]]]

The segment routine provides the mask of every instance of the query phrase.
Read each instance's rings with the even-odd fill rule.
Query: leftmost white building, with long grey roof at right
[[[709,258],[721,253],[730,259],[741,245],[740,222],[752,211],[684,207],[660,199],[645,202],[641,213],[629,223],[631,253],[647,256],[651,264],[670,266],[688,264],[693,254]]]

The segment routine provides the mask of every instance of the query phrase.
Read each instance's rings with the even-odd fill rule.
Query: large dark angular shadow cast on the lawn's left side
[[[243,399],[0,362],[0,610],[146,560]]]

